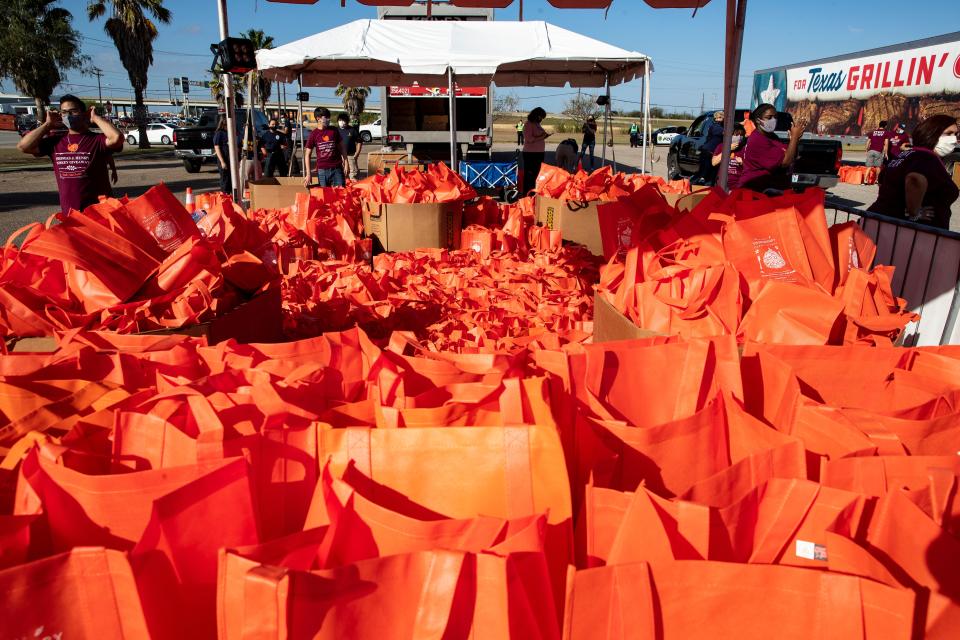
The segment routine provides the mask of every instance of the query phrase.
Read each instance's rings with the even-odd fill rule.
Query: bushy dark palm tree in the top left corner
[[[0,77],[10,78],[17,91],[33,98],[40,122],[47,117],[46,105],[64,72],[89,60],[80,54],[73,15],[53,6],[56,2],[8,0],[0,29]]]

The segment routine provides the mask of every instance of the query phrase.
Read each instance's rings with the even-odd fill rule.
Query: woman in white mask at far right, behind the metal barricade
[[[869,210],[950,228],[950,205],[960,195],[943,157],[957,146],[957,120],[930,116],[913,130],[913,147],[904,149],[883,170],[877,201]]]

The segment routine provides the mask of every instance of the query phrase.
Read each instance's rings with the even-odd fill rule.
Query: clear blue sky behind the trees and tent
[[[132,95],[126,72],[103,30],[103,20],[91,23],[85,0],[62,0],[73,13],[74,26],[84,36],[83,50],[104,72],[104,94]],[[154,65],[149,93],[168,94],[169,77],[206,79],[210,43],[219,40],[215,0],[167,0],[173,12],[169,25],[160,25],[154,43]],[[741,85],[738,101],[749,103],[750,78],[755,69],[850,53],[873,47],[941,35],[957,29],[956,0],[923,0],[922,11],[906,10],[902,1],[873,0],[750,0],[743,42]],[[497,19],[516,20],[518,3],[497,12]],[[546,20],[609,42],[641,51],[652,57],[655,67],[651,102],[668,110],[695,111],[701,98],[708,108],[720,106],[723,84],[723,41],[726,3],[713,0],[700,9],[654,10],[642,0],[614,0],[609,14],[599,10],[560,10],[546,0],[525,0],[524,18]],[[284,44],[351,20],[376,17],[376,10],[356,0],[319,0],[313,5],[228,0],[231,35],[263,29]],[[11,89],[5,83],[6,89]],[[331,89],[311,87],[311,97],[332,96]],[[67,91],[96,95],[96,79],[72,73],[58,93]],[[295,89],[294,89],[295,91]],[[510,89],[522,99],[524,109],[537,105],[559,111],[576,90],[570,88]],[[194,88],[191,95],[205,95]],[[291,98],[288,88],[287,96]],[[614,87],[615,108],[639,109],[638,82]]]

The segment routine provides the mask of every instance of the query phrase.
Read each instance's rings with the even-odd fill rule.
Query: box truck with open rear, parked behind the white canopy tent
[[[493,9],[415,2],[409,7],[379,7],[381,20],[493,20]],[[460,154],[490,156],[493,145],[493,87],[456,87],[457,141]],[[424,159],[450,155],[450,100],[446,85],[414,84],[381,89],[383,144]]]

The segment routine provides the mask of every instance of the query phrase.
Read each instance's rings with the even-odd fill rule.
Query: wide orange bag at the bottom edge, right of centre
[[[912,591],[872,580],[699,560],[578,571],[568,603],[564,636],[571,640],[907,640],[914,612]]]

